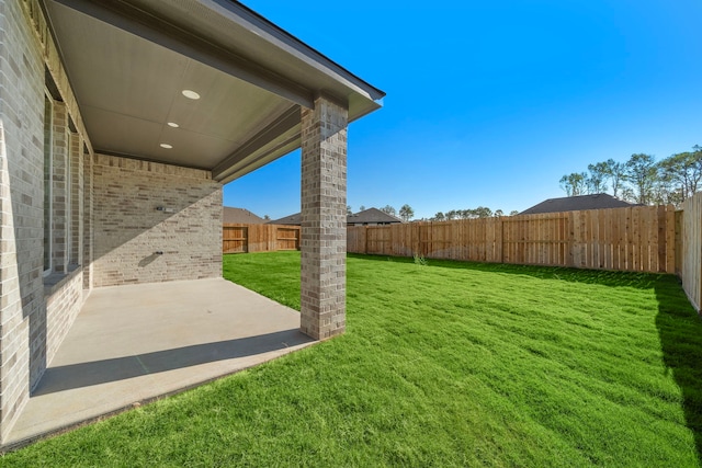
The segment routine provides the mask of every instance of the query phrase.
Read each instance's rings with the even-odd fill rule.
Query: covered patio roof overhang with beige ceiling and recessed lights
[[[98,152],[206,169],[226,183],[299,148],[301,106],[317,95],[348,105],[349,121],[385,95],[235,1],[45,8]]]

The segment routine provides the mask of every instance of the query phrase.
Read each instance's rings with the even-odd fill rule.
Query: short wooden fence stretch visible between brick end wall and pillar
[[[299,226],[225,224],[224,253],[299,250]]]

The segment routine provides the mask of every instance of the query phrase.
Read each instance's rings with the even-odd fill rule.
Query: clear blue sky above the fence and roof
[[[387,93],[349,127],[354,212],[522,210],[588,163],[702,145],[700,0],[244,3]],[[224,193],[299,212],[299,151]]]

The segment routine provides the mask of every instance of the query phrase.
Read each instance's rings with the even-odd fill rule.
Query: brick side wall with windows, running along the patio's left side
[[[0,3],[0,440],[26,403],[84,299],[82,135],[75,96],[35,1]],[[53,94],[47,96],[45,70]],[[64,77],[64,79],[61,79]],[[45,100],[52,101],[46,112]],[[45,114],[49,114],[50,138]],[[77,144],[75,144],[77,141]],[[45,146],[52,147],[45,194]],[[89,169],[90,170],[90,169]],[[46,197],[45,197],[46,195]],[[52,271],[45,272],[44,226],[50,199]],[[76,203],[73,203],[76,202]]]

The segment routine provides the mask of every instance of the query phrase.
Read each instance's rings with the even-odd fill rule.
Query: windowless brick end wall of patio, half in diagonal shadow
[[[94,286],[222,276],[222,184],[210,171],[97,155],[93,176]]]

